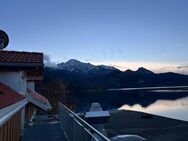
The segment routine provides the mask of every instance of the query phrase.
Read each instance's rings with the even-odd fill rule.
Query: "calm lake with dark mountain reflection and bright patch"
[[[87,93],[80,97],[78,111],[88,110],[93,99],[97,99],[104,110],[141,111],[188,121],[188,88]]]

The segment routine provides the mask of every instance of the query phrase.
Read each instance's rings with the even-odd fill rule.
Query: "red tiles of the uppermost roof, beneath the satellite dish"
[[[43,54],[36,52],[0,51],[0,63],[43,64]]]

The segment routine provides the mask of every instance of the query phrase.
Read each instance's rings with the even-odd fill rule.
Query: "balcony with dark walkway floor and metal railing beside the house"
[[[25,129],[22,141],[110,141],[61,103],[58,117],[38,117],[35,123]]]

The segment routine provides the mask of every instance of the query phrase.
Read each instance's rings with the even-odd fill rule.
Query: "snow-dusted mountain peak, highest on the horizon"
[[[69,72],[77,72],[83,74],[98,74],[98,73],[108,73],[114,70],[117,70],[111,66],[99,65],[95,66],[90,63],[83,63],[75,59],[71,59],[67,62],[62,62],[57,64],[58,69],[69,71]]]

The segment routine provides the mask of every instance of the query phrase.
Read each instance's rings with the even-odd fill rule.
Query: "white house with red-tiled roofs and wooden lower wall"
[[[35,92],[43,65],[42,53],[0,51],[0,141],[19,141],[37,109],[51,109]]]

